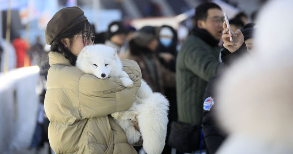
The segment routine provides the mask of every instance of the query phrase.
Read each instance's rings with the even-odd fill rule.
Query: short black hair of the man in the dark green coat
[[[194,15],[195,22],[197,23],[198,20],[205,20],[208,17],[208,9],[213,9],[213,8],[222,10],[219,7],[219,5],[213,2],[206,2],[206,3],[202,3],[198,5],[195,8],[195,15]]]

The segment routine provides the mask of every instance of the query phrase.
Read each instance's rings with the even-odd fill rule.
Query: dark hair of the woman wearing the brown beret
[[[88,21],[83,21],[71,29],[68,29],[66,32],[59,34],[52,42],[51,44],[51,51],[55,51],[58,53],[62,53],[63,56],[70,61],[72,65],[75,66],[76,62],[76,56],[71,53],[67,48],[64,47],[63,43],[61,42],[61,39],[69,38],[70,44],[72,45],[75,40],[73,40],[74,35],[82,32],[82,35],[89,35],[90,33],[93,33],[93,29],[91,24]],[[85,40],[84,37],[82,37],[83,45],[85,46]]]

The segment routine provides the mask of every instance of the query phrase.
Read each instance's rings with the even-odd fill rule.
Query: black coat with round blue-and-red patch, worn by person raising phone
[[[243,45],[234,53],[230,53],[227,49],[222,50],[221,58],[226,66],[230,66],[234,60],[237,60],[237,58],[241,57],[243,54],[248,54],[245,43],[243,43]],[[208,81],[203,97],[203,102],[209,97],[213,99],[213,105],[211,105],[209,109],[207,109],[207,106],[207,108],[204,107],[202,119],[202,131],[209,154],[214,154],[226,138],[226,134],[220,130],[216,123],[216,118],[214,117],[214,105],[217,104],[217,101],[214,98],[215,87],[220,77],[221,72]]]

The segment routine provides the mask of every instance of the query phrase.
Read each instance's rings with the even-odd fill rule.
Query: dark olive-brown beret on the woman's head
[[[52,17],[45,30],[45,39],[48,45],[61,33],[66,32],[78,23],[88,20],[78,6],[66,7]]]

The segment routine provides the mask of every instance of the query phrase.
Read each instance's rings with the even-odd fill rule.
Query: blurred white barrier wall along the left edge
[[[0,74],[0,151],[27,148],[34,133],[38,109],[35,87],[39,67]]]

